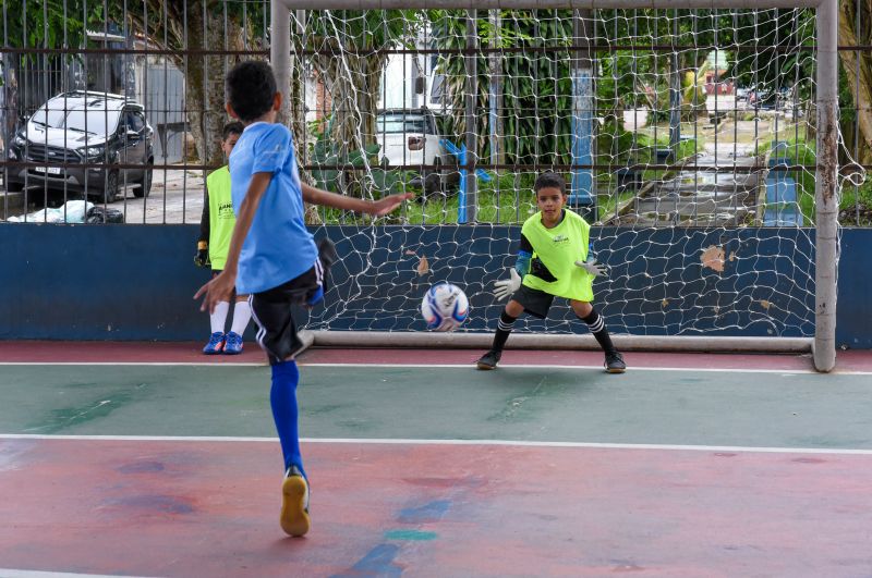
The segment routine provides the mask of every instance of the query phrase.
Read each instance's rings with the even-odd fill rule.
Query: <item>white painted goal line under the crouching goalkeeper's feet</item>
[[[474,364],[306,364],[299,362],[300,367],[353,367],[353,368],[374,368],[374,369],[472,369]],[[141,367],[268,367],[264,362],[206,362],[206,361],[0,361],[0,366],[141,366]],[[500,366],[501,370],[512,369],[596,369],[602,370],[603,366],[560,366],[550,364],[508,364]],[[813,369],[724,369],[724,368],[697,368],[697,367],[651,367],[638,366],[628,369],[633,371],[683,371],[692,373],[780,373],[783,376],[812,374],[812,376],[872,376],[872,371],[834,371],[832,373],[820,373]]]

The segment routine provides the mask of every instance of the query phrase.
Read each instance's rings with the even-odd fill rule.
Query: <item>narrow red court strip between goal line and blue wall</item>
[[[0,342],[2,362],[208,362],[266,364],[264,354],[253,343],[245,344],[242,355],[206,356],[202,343],[167,342]],[[470,364],[483,352],[475,349],[341,349],[312,348],[304,352],[301,364]],[[813,371],[810,355],[704,354],[629,352],[626,359],[632,368],[699,369],[771,369]],[[508,349],[501,365],[603,365],[600,352]],[[872,352],[838,352],[836,371],[872,371]]]

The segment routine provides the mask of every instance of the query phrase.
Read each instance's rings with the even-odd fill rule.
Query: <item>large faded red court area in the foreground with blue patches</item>
[[[276,445],[0,438],[0,568],[872,574],[871,455],[306,443],[313,528],[291,539],[277,520]]]

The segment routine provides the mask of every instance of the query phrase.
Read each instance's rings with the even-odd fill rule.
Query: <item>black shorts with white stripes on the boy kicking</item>
[[[326,239],[318,245],[318,260],[300,276],[277,287],[249,296],[252,319],[257,323],[257,343],[270,364],[293,358],[303,347],[293,320],[294,306],[311,307],[327,291],[327,273],[336,250]]]

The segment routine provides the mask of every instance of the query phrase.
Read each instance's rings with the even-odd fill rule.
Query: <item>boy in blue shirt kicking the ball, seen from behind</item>
[[[383,216],[411,194],[377,201],[327,193],[300,181],[291,132],[276,124],[281,94],[265,62],[238,64],[227,75],[227,112],[245,125],[230,155],[230,180],[237,224],[223,271],[194,295],[205,295],[211,310],[235,287],[247,293],[257,323],[257,343],[272,370],[270,405],[284,457],[281,528],[290,536],[308,531],[308,478],[298,432],[293,356],[302,347],[291,316],[294,304],[312,306],[324,296],[325,270],[336,259],[331,246],[316,247],[305,227],[303,201]]]

